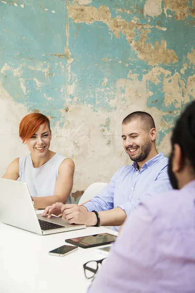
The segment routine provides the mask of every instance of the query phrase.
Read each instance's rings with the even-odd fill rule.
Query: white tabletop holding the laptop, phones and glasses
[[[65,239],[104,232],[117,235],[87,227],[43,236],[0,223],[0,293],[85,293],[91,280],[83,264],[104,257],[97,248],[78,248],[63,257],[48,252],[67,244]]]

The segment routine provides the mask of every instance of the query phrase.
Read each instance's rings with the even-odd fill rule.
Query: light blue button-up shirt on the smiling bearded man
[[[121,208],[127,217],[153,193],[172,189],[167,172],[168,159],[161,152],[146,162],[140,169],[137,163],[121,167],[114,174],[109,184],[84,206],[88,211]],[[114,227],[118,230],[118,227]]]

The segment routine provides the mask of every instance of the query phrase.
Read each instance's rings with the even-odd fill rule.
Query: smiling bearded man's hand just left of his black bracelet
[[[64,205],[61,208],[62,218],[70,224],[85,224],[94,226],[97,224],[97,217],[94,212],[89,212],[84,206]]]

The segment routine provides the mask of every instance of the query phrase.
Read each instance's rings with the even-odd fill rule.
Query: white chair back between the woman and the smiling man
[[[101,190],[107,186],[108,183],[104,182],[96,182],[92,183],[81,195],[81,198],[78,202],[78,205],[84,204],[86,201],[92,199],[94,196],[96,196],[98,193],[101,192]]]

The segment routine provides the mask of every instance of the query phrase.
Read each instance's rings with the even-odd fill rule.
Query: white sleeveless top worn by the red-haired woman
[[[48,162],[39,168],[33,167],[31,155],[19,158],[19,176],[21,182],[26,182],[31,196],[55,195],[54,190],[58,179],[59,165],[66,157],[55,154]],[[66,204],[71,204],[71,194]]]

